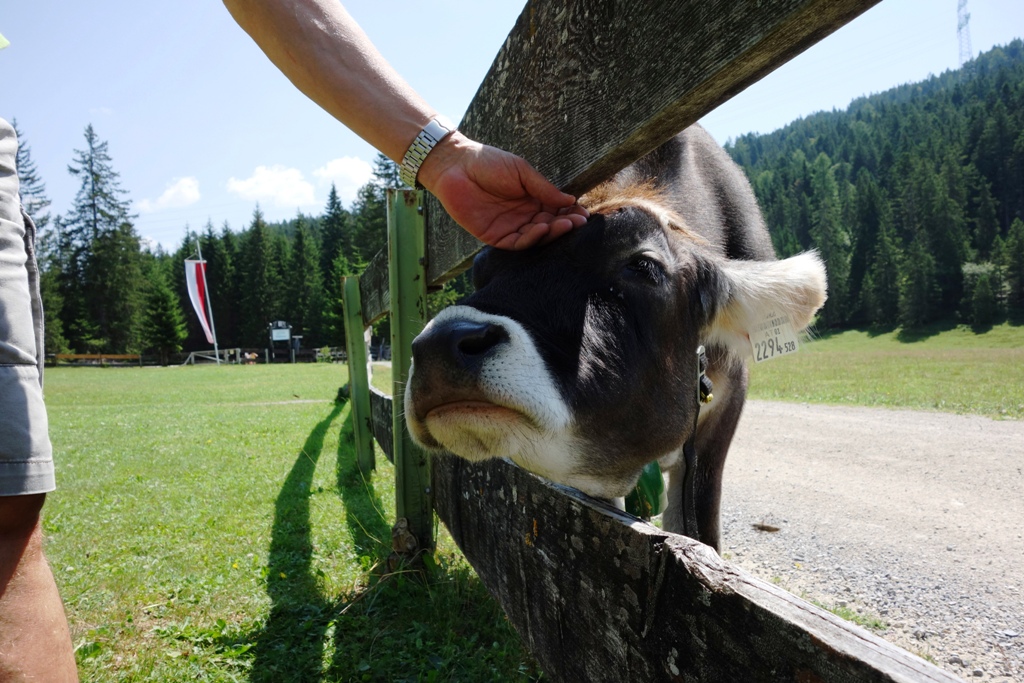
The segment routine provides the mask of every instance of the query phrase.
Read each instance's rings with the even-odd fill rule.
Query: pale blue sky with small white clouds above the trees
[[[397,71],[458,121],[521,0],[345,3]],[[1024,33],[1021,0],[970,0],[974,53]],[[425,30],[411,27],[423,18]],[[173,249],[185,225],[245,227],[318,213],[335,182],[346,206],[376,153],[306,99],[218,0],[8,0],[0,33],[0,117],[17,119],[63,213],[67,171],[92,124],[110,144],[148,240]],[[955,69],[956,0],[883,0],[703,119],[720,141]]]

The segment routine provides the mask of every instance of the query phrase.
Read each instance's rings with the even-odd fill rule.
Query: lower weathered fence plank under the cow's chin
[[[438,515],[555,681],[959,679],[707,546],[504,461],[435,457]]]

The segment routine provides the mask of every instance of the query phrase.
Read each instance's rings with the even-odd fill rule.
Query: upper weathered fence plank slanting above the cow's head
[[[878,2],[531,0],[460,128],[579,195]],[[478,248],[435,208],[431,285]]]

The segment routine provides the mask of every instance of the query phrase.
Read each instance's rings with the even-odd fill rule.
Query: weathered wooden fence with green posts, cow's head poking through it
[[[537,0],[460,129],[580,194],[878,0]],[[809,86],[813,87],[813,86]],[[428,249],[429,247],[429,249]],[[354,438],[395,464],[396,548],[440,517],[556,681],[956,681],[881,638],[666,533],[505,461],[430,458],[402,388],[428,287],[480,244],[436,200],[388,194],[388,250],[346,278]],[[371,390],[364,330],[390,313],[394,390]]]

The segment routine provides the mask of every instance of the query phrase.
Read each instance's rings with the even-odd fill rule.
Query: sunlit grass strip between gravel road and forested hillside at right
[[[1024,327],[822,335],[753,366],[750,396],[1024,419]]]

